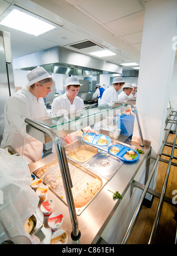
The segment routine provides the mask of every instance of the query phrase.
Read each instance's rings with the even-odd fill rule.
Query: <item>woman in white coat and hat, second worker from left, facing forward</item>
[[[54,99],[51,112],[56,116],[65,115],[65,118],[67,118],[68,114],[75,115],[77,111],[84,110],[84,101],[77,96],[82,84],[78,81],[76,76],[68,77],[64,86],[67,92]],[[87,127],[84,132],[94,131],[90,127]],[[69,144],[74,140],[77,140],[77,136],[80,135],[81,132],[72,132],[64,137],[64,141]],[[60,138],[60,141],[62,144],[64,144],[62,138]],[[54,147],[53,152],[55,152]]]

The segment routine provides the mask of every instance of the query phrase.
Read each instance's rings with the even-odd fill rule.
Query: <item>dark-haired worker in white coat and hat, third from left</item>
[[[118,101],[118,91],[122,88],[124,85],[123,77],[114,77],[113,79],[113,85],[109,86],[106,90],[104,90],[100,105],[108,104],[112,106],[114,101]]]

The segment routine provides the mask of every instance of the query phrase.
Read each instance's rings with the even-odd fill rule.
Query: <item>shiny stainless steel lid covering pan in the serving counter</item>
[[[123,162],[119,158],[101,152],[87,163],[87,167],[90,168],[91,171],[110,180],[122,164]]]

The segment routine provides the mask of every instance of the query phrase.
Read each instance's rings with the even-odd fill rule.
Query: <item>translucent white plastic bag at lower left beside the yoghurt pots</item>
[[[38,207],[39,197],[30,187],[31,174],[22,156],[0,148],[0,244],[9,236],[27,235],[24,224]]]

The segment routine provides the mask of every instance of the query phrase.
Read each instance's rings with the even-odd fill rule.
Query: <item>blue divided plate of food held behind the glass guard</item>
[[[99,146],[107,146],[112,141],[110,137],[103,134],[94,134],[93,132],[87,132],[83,134],[82,140],[86,143],[99,145]]]

